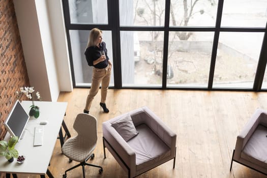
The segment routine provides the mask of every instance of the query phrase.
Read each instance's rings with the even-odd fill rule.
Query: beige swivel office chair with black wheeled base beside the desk
[[[62,153],[72,160],[80,162],[79,164],[69,168],[63,174],[63,178],[67,177],[67,171],[70,171],[78,166],[82,166],[83,177],[85,178],[84,166],[99,167],[99,173],[103,172],[101,166],[88,164],[88,159],[94,159],[97,143],[97,119],[93,115],[80,113],[76,116],[73,128],[78,133],[77,136],[69,138],[62,146]]]

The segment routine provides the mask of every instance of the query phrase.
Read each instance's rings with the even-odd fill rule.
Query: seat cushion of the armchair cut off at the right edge
[[[258,125],[244,150],[241,153],[241,158],[249,160],[261,167],[267,167],[267,128]]]

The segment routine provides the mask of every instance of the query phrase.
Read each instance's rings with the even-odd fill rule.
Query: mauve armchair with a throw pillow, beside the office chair
[[[132,121],[124,125],[124,120]],[[123,126],[121,129],[117,127]],[[127,112],[102,123],[104,158],[105,148],[118,164],[135,177],[171,159],[175,167],[176,134],[148,107]],[[134,129],[133,136],[126,132]],[[136,130],[135,130],[136,129]],[[119,133],[120,132],[120,133]],[[126,136],[125,136],[126,135]]]

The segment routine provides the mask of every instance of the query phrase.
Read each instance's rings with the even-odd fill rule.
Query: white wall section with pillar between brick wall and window
[[[60,0],[13,0],[29,82],[43,101],[72,91],[71,72]]]

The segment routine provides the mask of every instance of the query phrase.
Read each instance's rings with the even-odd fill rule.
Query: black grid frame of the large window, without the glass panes
[[[138,89],[161,89],[161,90],[207,90],[207,91],[267,91],[266,89],[261,89],[263,82],[263,77],[265,73],[265,68],[267,64],[267,22],[265,27],[221,27],[221,18],[223,12],[223,0],[218,0],[218,9],[216,17],[215,27],[180,27],[180,26],[169,26],[170,20],[170,0],[165,1],[165,22],[164,26],[120,26],[120,14],[119,14],[119,0],[107,0],[108,9],[108,24],[71,24],[70,22],[70,12],[69,4],[67,0],[62,0],[63,11],[65,18],[66,34],[69,47],[70,65],[72,73],[72,81],[74,87],[88,87],[88,86],[76,86],[74,69],[73,69],[73,59],[72,51],[70,45],[70,30],[88,30],[90,31],[94,27],[98,27],[103,31],[111,31],[112,35],[112,53],[113,53],[113,74],[114,74],[114,86],[110,88],[138,88]],[[122,86],[122,69],[121,69],[121,31],[162,31],[164,32],[164,44],[163,44],[163,73],[162,73],[162,85],[161,87],[155,86]],[[214,40],[211,55],[211,64],[209,71],[209,81],[207,87],[181,87],[172,86],[167,87],[167,60],[168,60],[168,38],[169,32],[176,31],[186,31],[186,32],[214,32]],[[256,74],[254,78],[254,83],[252,88],[214,88],[213,78],[216,64],[217,47],[219,43],[220,32],[258,32],[264,33],[262,46],[260,50],[258,65],[256,69]]]

